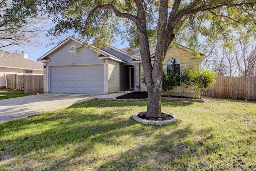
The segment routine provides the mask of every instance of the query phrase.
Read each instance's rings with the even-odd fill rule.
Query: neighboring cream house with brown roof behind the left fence
[[[6,87],[6,74],[41,75],[43,65],[28,59],[28,55],[0,51],[0,87]]]

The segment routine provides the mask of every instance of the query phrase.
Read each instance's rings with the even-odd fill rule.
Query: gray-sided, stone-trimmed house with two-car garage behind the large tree
[[[44,92],[109,94],[119,91],[146,91],[140,82],[143,72],[140,50],[133,55],[126,49],[109,46],[108,50],[86,44],[80,53],[76,49],[84,42],[69,37],[38,58],[44,65]],[[152,63],[154,48],[150,49]],[[204,59],[190,56],[183,46],[170,48],[164,68],[180,70],[186,66],[199,66]]]

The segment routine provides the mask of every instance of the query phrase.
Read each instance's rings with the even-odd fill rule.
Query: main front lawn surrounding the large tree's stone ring
[[[0,124],[0,170],[255,170],[256,103],[162,101],[171,125],[137,123],[146,101],[88,101]]]

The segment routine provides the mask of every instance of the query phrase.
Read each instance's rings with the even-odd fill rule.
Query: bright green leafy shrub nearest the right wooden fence
[[[201,70],[200,68],[192,68],[190,76],[192,78],[193,90],[202,97],[203,91],[212,86],[216,80],[217,73],[208,68]]]

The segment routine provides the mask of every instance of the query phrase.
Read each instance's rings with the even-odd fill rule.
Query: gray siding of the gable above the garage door
[[[82,64],[103,64],[104,60],[98,58],[94,50],[84,47],[80,53],[69,52],[71,46],[80,46],[77,42],[70,40],[59,50],[56,50],[49,58],[48,66],[82,65]]]

